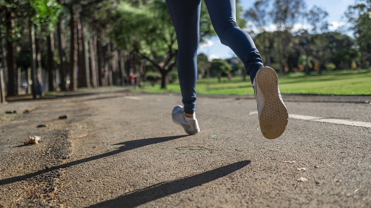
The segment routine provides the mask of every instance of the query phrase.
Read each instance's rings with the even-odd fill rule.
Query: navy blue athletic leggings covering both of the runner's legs
[[[263,67],[262,57],[252,38],[236,23],[235,0],[205,0],[211,23],[221,43],[240,58],[251,80]],[[166,0],[178,41],[178,78],[184,112],[196,108],[197,47],[200,41],[201,0]]]

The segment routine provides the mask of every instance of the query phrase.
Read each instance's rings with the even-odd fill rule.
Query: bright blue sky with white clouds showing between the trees
[[[240,0],[240,5],[244,10],[247,10],[253,6],[255,1],[256,0]],[[345,24],[344,12],[348,9],[348,6],[355,4],[355,0],[305,0],[305,3],[308,10],[313,6],[325,9],[328,12],[327,20],[332,25],[329,29],[334,31],[339,26]],[[206,54],[210,61],[214,58],[226,59],[236,57],[233,51],[229,47],[221,44],[219,38],[216,36],[207,39],[206,43],[200,44],[197,52],[198,54]]]

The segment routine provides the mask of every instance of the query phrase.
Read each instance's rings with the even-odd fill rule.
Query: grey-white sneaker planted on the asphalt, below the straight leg
[[[175,124],[181,125],[187,134],[196,134],[200,132],[200,127],[198,127],[198,121],[196,114],[193,114],[193,118],[185,118],[184,107],[181,105],[175,106],[172,113],[173,122]]]

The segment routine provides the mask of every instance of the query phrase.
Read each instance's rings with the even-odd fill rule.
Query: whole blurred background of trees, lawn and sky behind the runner
[[[282,93],[371,94],[370,0],[237,0]],[[202,2],[197,92],[253,94]],[[0,97],[133,85],[180,92],[163,0],[0,0]]]

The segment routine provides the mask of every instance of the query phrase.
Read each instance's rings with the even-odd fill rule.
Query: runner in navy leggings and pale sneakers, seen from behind
[[[257,103],[260,130],[274,139],[283,134],[288,112],[278,88],[278,77],[263,65],[262,57],[249,34],[237,26],[235,0],[205,0],[211,23],[221,43],[240,58],[250,75]],[[183,104],[173,109],[172,117],[187,134],[200,131],[196,119],[197,48],[200,37],[201,0],[166,0],[178,40],[178,78]]]

